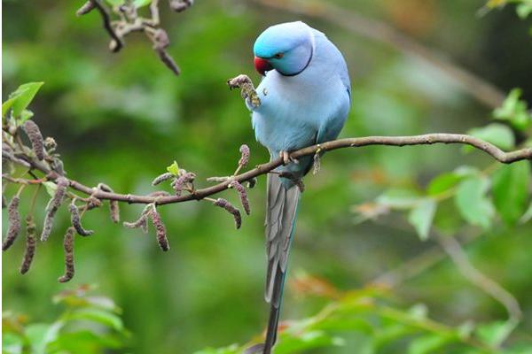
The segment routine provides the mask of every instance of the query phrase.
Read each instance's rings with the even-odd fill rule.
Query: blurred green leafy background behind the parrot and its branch
[[[256,35],[271,24],[304,19],[336,42],[348,61],[354,104],[342,136],[470,131],[505,149],[527,143],[530,23],[512,4],[479,16],[482,1],[334,3],[398,27],[505,92],[522,89],[521,96],[513,91],[494,113],[438,68],[386,44],[324,19],[244,1],[205,0],[183,14],[162,11],[169,50],[183,71],[176,78],[141,35],[129,37],[121,53],[109,53],[98,16],[74,16],[81,3],[13,0],[3,3],[3,98],[24,82],[45,82],[29,108],[43,134],[59,142],[69,176],[88,185],[106,181],[118,191],[149,193],[153,176],[174,159],[200,177],[231,173],[241,143],[252,148],[252,164],[267,156],[225,81],[238,73],[258,80],[251,54]],[[306,180],[283,312],[284,319],[299,320],[285,322],[278,352],[529,353],[532,225],[523,216],[529,171],[528,163],[501,167],[457,146],[327,154],[322,171]],[[450,174],[438,177],[442,173]],[[164,254],[153,237],[113,225],[104,210],[90,212],[84,224],[97,234],[78,239],[77,273],[68,285],[56,281],[63,267],[61,232],[38,245],[25,276],[18,273],[18,242],[3,257],[4,328],[9,332],[6,324],[13,321],[19,329],[57,323],[89,306],[111,314],[111,322],[89,316],[69,323],[67,332],[114,335],[118,342],[93,338],[83,346],[79,340],[70,352],[194,352],[256,338],[268,315],[262,301],[264,195],[260,179],[250,193],[252,215],[239,231],[208,204],[161,208],[172,247]],[[43,195],[41,210],[45,203]],[[140,208],[122,205],[122,219],[134,219]],[[43,216],[36,217],[40,224]],[[56,230],[64,230],[66,211],[58,218]],[[509,336],[505,307],[467,281],[442,251],[439,240],[450,236],[465,243],[476,268],[519,301],[523,319]],[[411,275],[397,279],[394,271],[405,266]],[[82,309],[73,310],[72,302],[51,301],[65,289],[87,296],[87,283],[98,284],[94,291],[113,298],[121,312],[114,305],[102,310],[99,303],[74,302]],[[116,321],[123,327],[113,327]],[[47,351],[69,350],[52,344]]]

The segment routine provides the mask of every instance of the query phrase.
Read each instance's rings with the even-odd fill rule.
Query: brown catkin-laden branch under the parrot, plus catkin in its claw
[[[228,84],[231,89],[241,88],[242,96],[248,100],[249,104],[254,106],[261,104],[254,91],[251,80],[246,75],[239,75],[237,78],[228,81]],[[29,144],[25,144],[22,141],[22,132],[27,135]],[[498,149],[495,145],[471,135],[442,133],[412,136],[365,136],[340,139],[292,151],[290,158],[296,160],[303,156],[314,156],[315,164],[317,164],[319,162],[317,157],[320,153],[325,151],[358,148],[370,145],[407,146],[430,145],[434,143],[458,143],[470,145],[478,150],[486,152],[492,158],[495,158],[497,161],[504,164],[510,164],[515,161],[526,159],[532,160],[532,148],[505,152]],[[138,227],[142,230],[147,230],[148,221],[150,221],[155,228],[156,240],[160,245],[160,249],[169,250],[166,227],[157,211],[158,206],[164,204],[184,203],[192,200],[206,201],[229,212],[235,220],[236,227],[239,228],[242,222],[242,216],[239,209],[226,199],[214,199],[211,198],[211,196],[215,196],[225,189],[234,189],[239,196],[240,204],[244,211],[246,214],[249,214],[250,207],[244,183],[247,182],[246,187],[248,189],[253,188],[256,177],[267,173],[276,173],[274,170],[285,163],[284,158],[277,158],[262,165],[257,165],[249,171],[240,173],[240,171],[248,164],[250,155],[249,148],[246,145],[242,145],[240,147],[241,157],[238,162],[238,167],[231,176],[212,177],[207,179],[207,181],[217,182],[214,186],[204,189],[196,189],[196,174],[179,168],[175,163],[168,167],[168,173],[160,174],[160,176],[156,177],[152,182],[153,186],[156,186],[162,182],[169,181],[174,190],[174,194],[158,190],[149,195],[138,196],[115,193],[113,189],[104,183],[99,183],[97,187],[92,188],[79,181],[66,178],[66,173],[63,170],[63,163],[59,154],[55,152],[56,149],[57,144],[55,140],[50,137],[43,139],[39,127],[33,120],[26,120],[22,123],[20,120],[11,116],[4,119],[2,132],[3,162],[5,161],[10,165],[20,165],[24,167],[27,172],[22,176],[14,176],[13,173],[16,170],[7,168],[4,169],[4,171],[8,171],[8,173],[2,175],[4,182],[20,185],[20,189],[16,195],[12,197],[12,201],[8,205],[8,220],[10,227],[2,248],[3,250],[9,249],[22,229],[20,225],[19,206],[20,194],[23,189],[32,185],[36,185],[37,187],[44,185],[48,189],[52,189],[52,196],[45,210],[41,241],[46,241],[51,235],[54,216],[64,200],[69,198],[71,200],[69,212],[71,214],[72,226],[67,228],[64,238],[65,274],[59,278],[59,281],[69,281],[74,276],[74,235],[90,236],[93,234],[92,230],[82,227],[82,217],[85,212],[100,207],[102,201],[109,201],[110,215],[113,222],[118,222],[120,219],[119,202],[125,202],[128,204],[146,204],[144,211],[141,212],[136,221],[124,222],[123,225],[124,227]],[[39,177],[37,175],[40,173],[42,173],[43,176]],[[289,176],[286,177],[290,178]],[[75,195],[75,191],[81,192],[88,197]],[[35,223],[33,221],[33,213],[35,209],[35,197],[38,192],[39,189],[37,188],[31,201],[30,212],[26,219],[27,247],[20,268],[20,273],[27,273],[35,254]],[[77,206],[76,202],[82,203],[82,205]]]

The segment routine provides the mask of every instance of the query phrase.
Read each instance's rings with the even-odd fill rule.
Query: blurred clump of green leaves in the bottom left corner
[[[89,286],[65,290],[53,297],[63,307],[52,323],[27,323],[24,315],[2,315],[2,352],[102,353],[126,346],[129,332],[121,320],[121,309],[106,296],[90,294]]]

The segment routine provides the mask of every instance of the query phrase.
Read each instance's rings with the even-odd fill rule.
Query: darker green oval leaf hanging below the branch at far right
[[[493,175],[493,201],[506,224],[515,224],[527,211],[530,163],[502,165]]]

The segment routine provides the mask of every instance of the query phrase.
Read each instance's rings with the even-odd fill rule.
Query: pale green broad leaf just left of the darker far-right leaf
[[[460,215],[469,223],[488,228],[495,209],[486,192],[489,189],[488,179],[472,176],[461,181],[455,195],[455,204]]]

